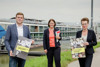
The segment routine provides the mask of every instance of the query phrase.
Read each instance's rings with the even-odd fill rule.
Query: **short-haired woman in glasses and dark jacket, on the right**
[[[78,58],[80,67],[91,67],[94,49],[93,46],[97,44],[97,39],[95,32],[93,30],[88,29],[89,19],[82,18],[81,19],[82,30],[78,31],[76,34],[76,38],[84,38],[86,46],[85,49],[85,58]]]

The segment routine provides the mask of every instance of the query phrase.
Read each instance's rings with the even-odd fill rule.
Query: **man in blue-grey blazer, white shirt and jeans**
[[[23,36],[26,38],[31,38],[29,28],[25,25],[23,25],[24,21],[24,14],[19,12],[16,14],[16,23],[13,25],[9,25],[6,37],[5,37],[5,45],[8,50],[9,54],[9,67],[24,67],[25,60],[21,58],[14,57],[13,51],[15,48],[15,45],[18,40],[18,36]],[[34,41],[32,41],[34,43]]]

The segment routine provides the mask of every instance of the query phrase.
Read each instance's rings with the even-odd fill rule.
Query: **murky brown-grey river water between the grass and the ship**
[[[36,42],[36,44],[42,44],[42,41]],[[70,41],[61,41],[61,49],[66,50],[70,48]],[[43,51],[43,47],[31,49],[31,51]],[[29,58],[35,58],[34,56],[28,56]],[[0,54],[0,67],[9,67],[9,57],[8,55],[1,55]]]

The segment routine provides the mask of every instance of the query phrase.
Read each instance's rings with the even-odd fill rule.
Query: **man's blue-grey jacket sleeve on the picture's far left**
[[[11,38],[11,29],[10,29],[10,26],[8,26],[7,31],[6,31],[6,36],[5,36],[5,46],[8,52],[12,51],[9,44],[10,38]]]

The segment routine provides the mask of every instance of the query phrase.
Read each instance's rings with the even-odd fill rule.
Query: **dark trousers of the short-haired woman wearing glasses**
[[[80,67],[91,67],[93,54],[86,54],[86,58],[79,58]]]

